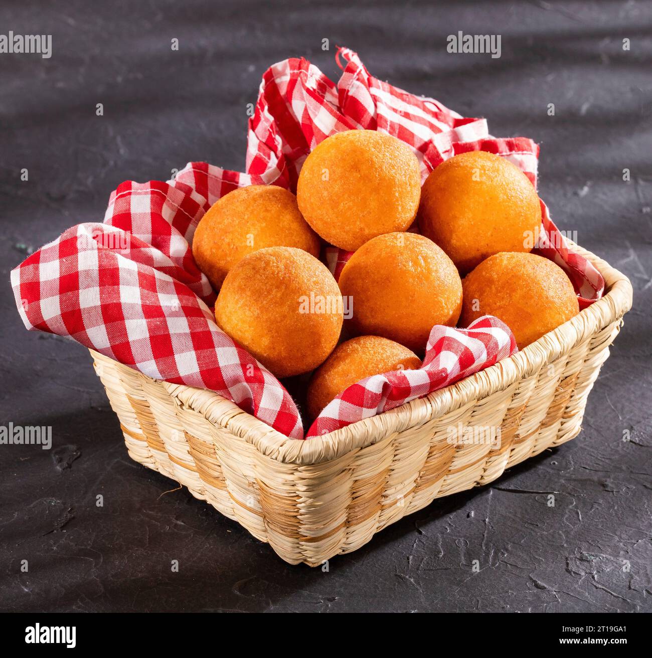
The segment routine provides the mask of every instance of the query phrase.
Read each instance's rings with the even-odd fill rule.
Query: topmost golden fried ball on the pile
[[[399,139],[347,130],[307,157],[297,184],[306,221],[327,242],[355,251],[384,233],[405,231],[418,210],[419,163]]]

